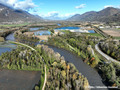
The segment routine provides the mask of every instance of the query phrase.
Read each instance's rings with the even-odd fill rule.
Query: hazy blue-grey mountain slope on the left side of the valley
[[[41,17],[0,4],[0,22],[39,21]]]

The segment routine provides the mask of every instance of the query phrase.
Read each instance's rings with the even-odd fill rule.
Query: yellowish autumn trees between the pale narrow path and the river
[[[55,53],[52,49],[44,45],[38,45],[41,48],[41,54],[47,64],[47,83],[45,90],[48,89],[88,89],[87,79],[78,73],[75,66],[67,63],[64,57]]]

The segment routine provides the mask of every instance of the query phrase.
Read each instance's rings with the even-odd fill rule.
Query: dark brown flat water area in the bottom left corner
[[[0,90],[33,90],[40,75],[38,71],[0,70]]]

